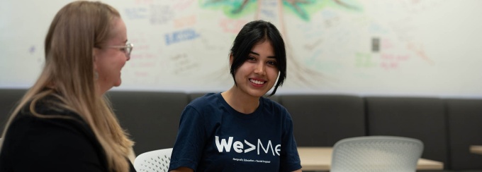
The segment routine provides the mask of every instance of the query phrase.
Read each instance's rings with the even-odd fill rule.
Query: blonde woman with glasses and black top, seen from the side
[[[133,44],[115,8],[74,1],[45,38],[45,66],[13,110],[0,171],[135,171],[133,142],[104,93],[120,85]]]

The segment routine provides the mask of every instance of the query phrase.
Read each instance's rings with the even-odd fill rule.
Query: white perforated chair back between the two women
[[[145,152],[135,157],[134,168],[138,172],[168,171],[172,148]]]

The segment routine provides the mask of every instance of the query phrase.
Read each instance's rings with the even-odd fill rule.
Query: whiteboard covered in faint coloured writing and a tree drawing
[[[27,88],[69,0],[2,0],[0,88]],[[228,53],[251,20],[269,20],[288,53],[278,93],[482,97],[482,1],[106,0],[135,44],[115,90],[220,92]]]

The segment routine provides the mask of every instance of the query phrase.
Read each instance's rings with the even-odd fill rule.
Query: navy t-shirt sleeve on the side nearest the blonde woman
[[[179,131],[172,149],[169,171],[185,166],[196,169],[206,145],[203,115],[192,106],[186,106],[179,122]]]

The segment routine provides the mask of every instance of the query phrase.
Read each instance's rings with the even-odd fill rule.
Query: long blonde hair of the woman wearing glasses
[[[116,18],[118,11],[99,1],[74,1],[60,9],[45,37],[43,71],[11,113],[2,137],[23,106],[39,118],[65,118],[35,111],[35,102],[53,95],[61,102],[56,106],[76,112],[89,124],[105,151],[109,170],[129,171],[126,157],[133,142],[108,99],[98,94],[94,77],[93,49],[109,39]]]

